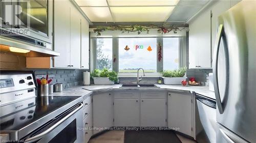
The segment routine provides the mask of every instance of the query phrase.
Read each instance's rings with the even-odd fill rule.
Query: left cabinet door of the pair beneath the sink
[[[139,126],[139,100],[114,99],[115,127]]]

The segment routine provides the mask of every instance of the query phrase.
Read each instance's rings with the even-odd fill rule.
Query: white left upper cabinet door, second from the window
[[[81,64],[81,33],[80,33],[80,16],[79,11],[71,7],[71,22],[70,22],[70,65],[71,68],[80,68]]]

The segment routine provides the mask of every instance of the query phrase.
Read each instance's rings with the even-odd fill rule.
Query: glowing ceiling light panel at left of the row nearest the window
[[[81,7],[92,22],[113,21],[108,7]]]

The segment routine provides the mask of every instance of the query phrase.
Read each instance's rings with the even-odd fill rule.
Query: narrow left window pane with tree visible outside
[[[112,38],[97,38],[96,69],[112,70]]]

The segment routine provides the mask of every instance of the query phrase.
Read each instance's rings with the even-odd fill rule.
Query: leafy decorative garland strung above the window
[[[104,31],[121,31],[121,33],[130,33],[130,32],[137,32],[138,35],[141,34],[141,32],[147,32],[147,34],[150,32],[150,29],[158,29],[158,33],[166,34],[171,31],[174,32],[174,34],[177,33],[177,31],[182,31],[185,28],[179,28],[177,26],[171,25],[169,27],[159,26],[159,25],[115,25],[115,26],[98,26],[93,31],[94,33],[97,33],[97,36],[100,36],[102,32]]]

